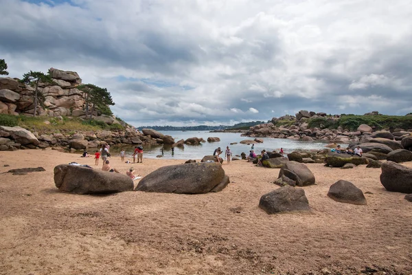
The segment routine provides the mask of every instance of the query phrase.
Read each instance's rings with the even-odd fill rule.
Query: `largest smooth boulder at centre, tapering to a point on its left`
[[[190,163],[163,166],[139,181],[136,190],[198,194],[218,192],[229,184],[220,164]]]

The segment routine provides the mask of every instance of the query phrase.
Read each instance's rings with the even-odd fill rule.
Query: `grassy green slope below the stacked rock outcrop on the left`
[[[49,123],[48,123],[49,122]],[[29,131],[98,131],[98,130],[123,130],[120,124],[108,125],[101,121],[81,120],[80,118],[67,118],[63,120],[46,116],[30,117],[25,115],[0,114],[1,126],[21,126]]]

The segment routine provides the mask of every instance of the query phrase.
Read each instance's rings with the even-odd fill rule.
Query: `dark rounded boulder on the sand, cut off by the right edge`
[[[380,183],[391,192],[412,193],[412,169],[396,162],[382,163]]]

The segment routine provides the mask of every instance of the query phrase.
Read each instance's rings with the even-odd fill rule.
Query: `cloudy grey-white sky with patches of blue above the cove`
[[[11,77],[106,87],[135,126],[412,112],[410,0],[0,0]]]

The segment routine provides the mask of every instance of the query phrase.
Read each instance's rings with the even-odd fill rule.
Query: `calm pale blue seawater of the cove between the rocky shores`
[[[186,145],[184,148],[175,147],[174,154],[172,155],[172,147],[169,145],[145,145],[144,146],[144,157],[146,158],[157,158],[157,155],[162,155],[161,149],[163,148],[163,158],[165,159],[201,159],[205,155],[213,155],[216,148],[222,148],[223,153],[225,153],[226,146],[229,146],[232,151],[232,155],[240,155],[244,152],[249,155],[251,150],[251,144],[240,144],[242,140],[253,140],[254,137],[242,137],[240,133],[210,133],[209,131],[162,131],[164,135],[171,135],[174,140],[186,140],[189,137],[203,137],[203,142],[201,145]],[[207,142],[207,137],[219,137],[220,142]],[[302,142],[297,140],[287,140],[283,138],[271,138],[271,137],[261,137],[263,143],[255,142],[255,153],[260,153],[263,149],[266,151],[279,151],[280,148],[284,149],[285,153],[290,153],[296,149],[323,149],[325,148],[325,142]],[[230,145],[233,142],[238,142],[238,144]],[[131,159],[134,151],[134,146],[123,146],[124,151],[126,151],[126,159]],[[118,156],[121,150],[120,146],[112,146],[111,154],[113,156]]]

